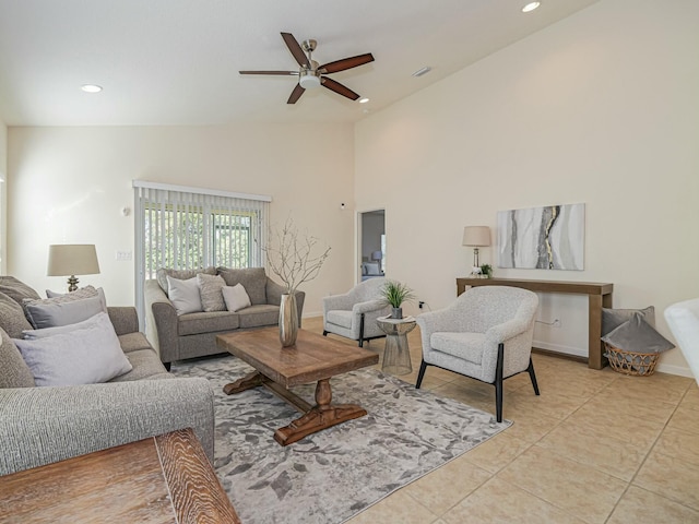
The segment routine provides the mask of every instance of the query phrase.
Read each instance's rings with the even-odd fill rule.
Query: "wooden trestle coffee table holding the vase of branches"
[[[282,445],[367,414],[356,404],[331,404],[330,379],[377,364],[376,353],[304,330],[298,331],[294,346],[282,347],[279,327],[217,335],[216,344],[256,369],[227,384],[223,389],[226,394],[263,385],[304,414],[274,432],[274,440]],[[288,391],[294,385],[316,381],[315,406]]]

